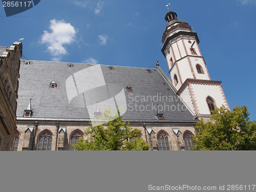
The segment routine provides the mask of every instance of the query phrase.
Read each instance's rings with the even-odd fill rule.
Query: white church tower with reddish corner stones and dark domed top
[[[225,105],[229,109],[221,81],[211,80],[199,49],[197,33],[177,14],[168,11],[162,37],[170,78],[177,94],[196,118],[208,118],[211,111]]]

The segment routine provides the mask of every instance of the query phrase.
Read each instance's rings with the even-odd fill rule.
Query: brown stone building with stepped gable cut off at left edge
[[[22,43],[0,47],[0,151],[11,151],[18,136],[15,124]]]

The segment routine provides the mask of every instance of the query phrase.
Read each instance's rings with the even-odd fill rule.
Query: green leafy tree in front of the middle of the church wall
[[[102,122],[105,122],[102,124]],[[91,135],[91,140],[80,138],[74,144],[78,151],[146,151],[150,146],[138,138],[140,130],[130,127],[129,122],[124,122],[119,111],[111,114],[110,108],[106,108],[101,118],[88,128],[85,134]],[[93,126],[94,125],[94,126]],[[133,138],[132,142],[129,142]]]

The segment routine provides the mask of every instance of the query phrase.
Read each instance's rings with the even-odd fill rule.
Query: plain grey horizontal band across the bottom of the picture
[[[0,152],[0,156],[0,187],[5,192],[256,191],[255,152]]]

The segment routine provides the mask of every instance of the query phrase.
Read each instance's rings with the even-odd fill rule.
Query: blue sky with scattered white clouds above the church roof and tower
[[[23,54],[31,60],[148,68],[158,59],[168,74],[160,46],[168,3],[197,32],[230,108],[247,105],[256,120],[256,0],[41,0],[10,17],[2,7],[0,46],[25,38]]]

